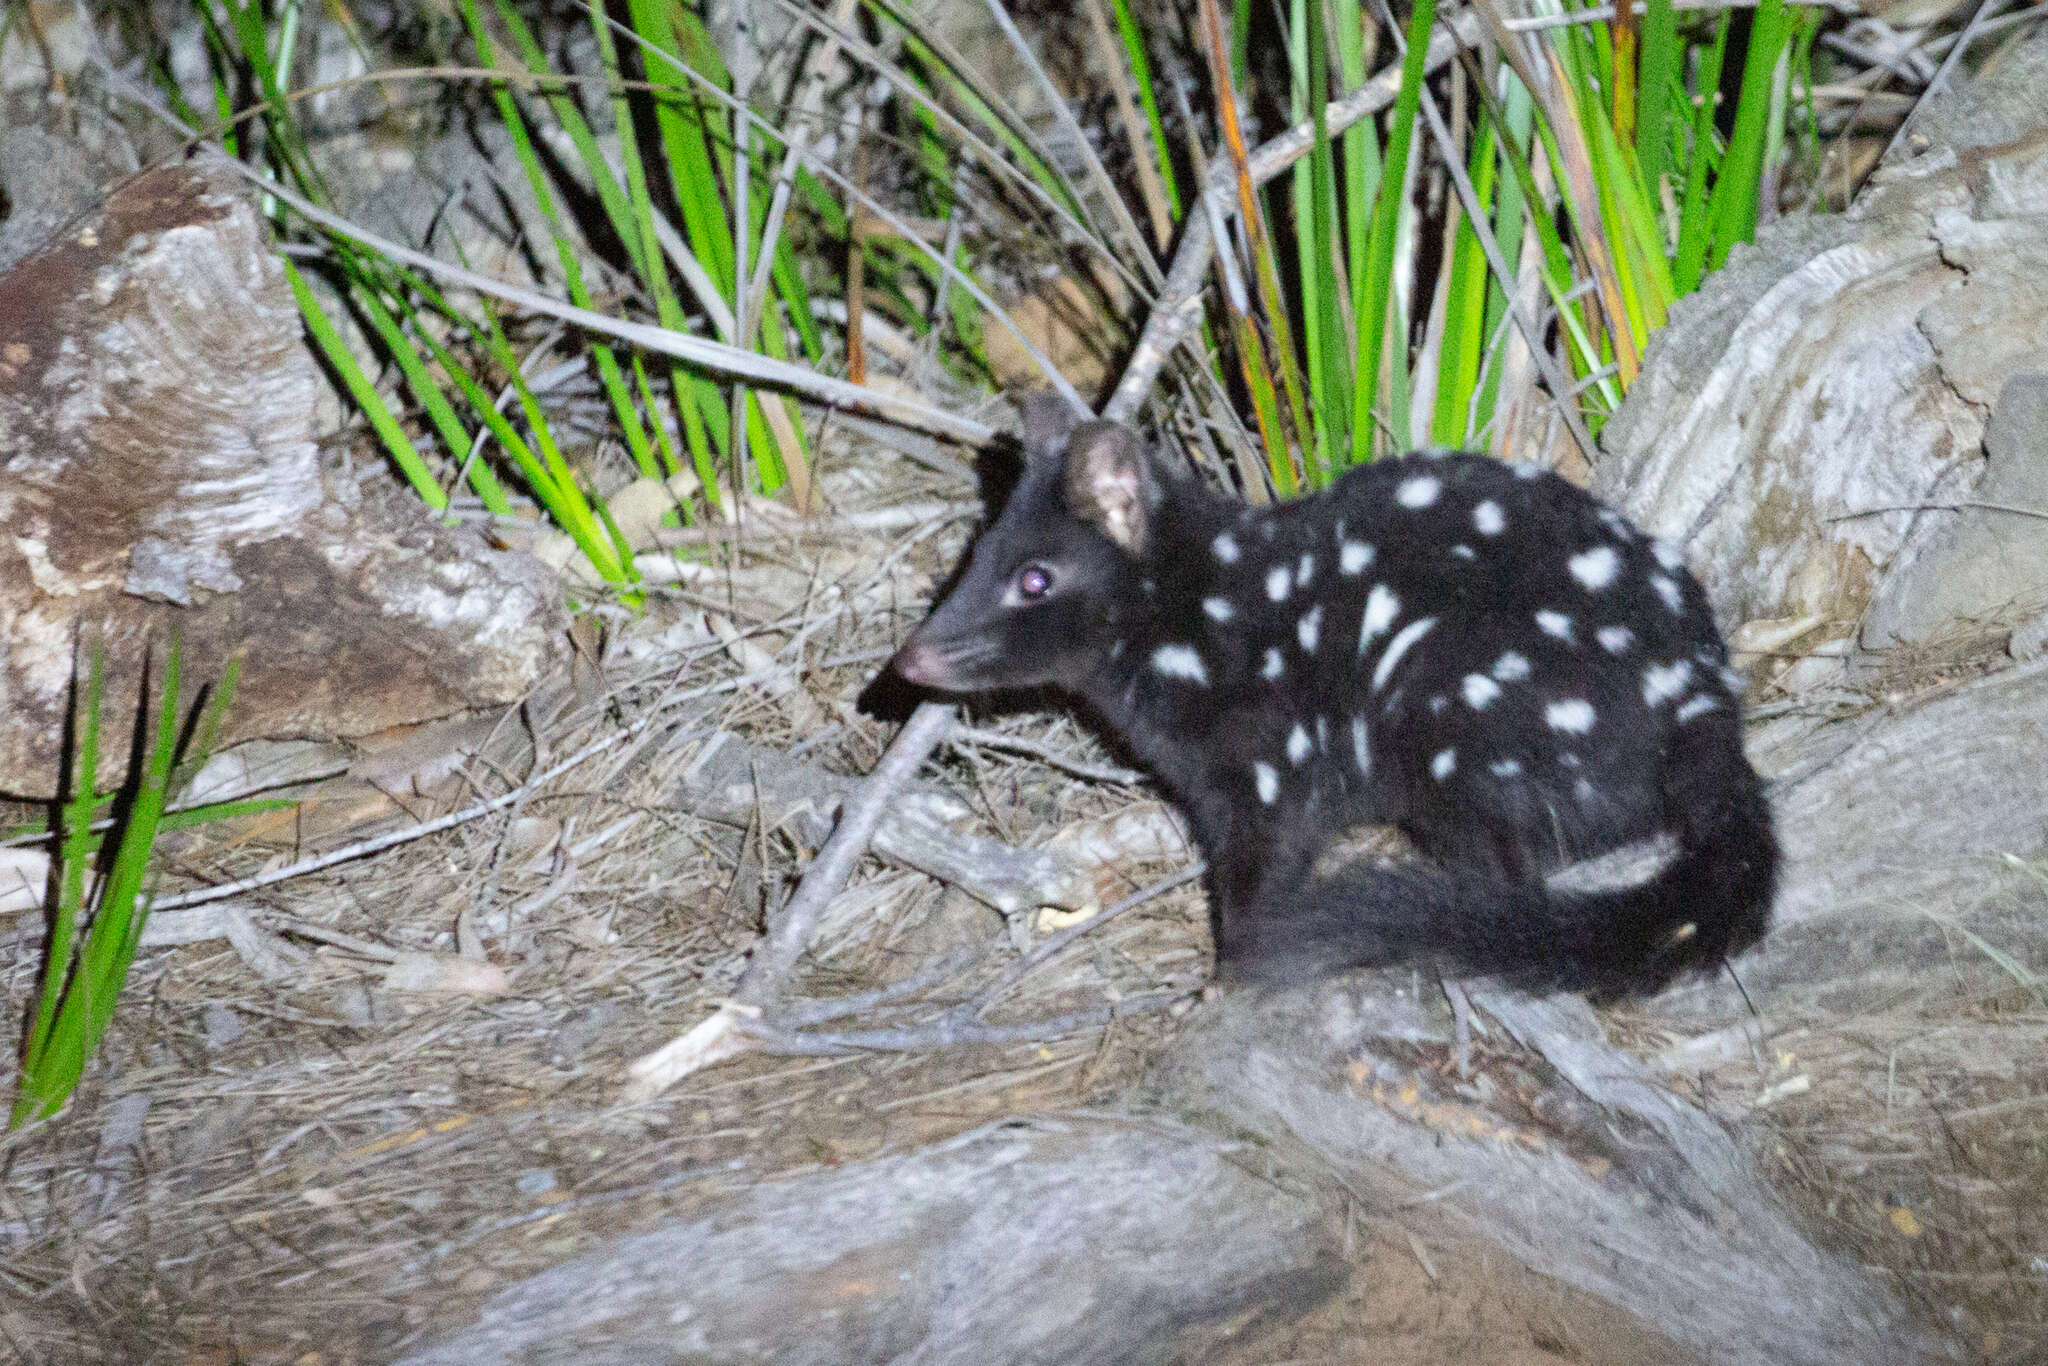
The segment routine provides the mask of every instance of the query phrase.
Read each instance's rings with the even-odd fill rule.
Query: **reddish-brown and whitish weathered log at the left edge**
[[[121,182],[0,274],[0,791],[55,791],[92,645],[115,727],[172,633],[193,680],[244,655],[229,743],[510,702],[559,659],[539,563],[324,481],[315,393],[262,223],[207,162]]]

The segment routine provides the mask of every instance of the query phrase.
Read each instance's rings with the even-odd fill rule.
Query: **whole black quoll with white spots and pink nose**
[[[1618,995],[1763,934],[1769,807],[1675,549],[1479,455],[1247,508],[1057,399],[1024,426],[895,670],[1083,702],[1192,821],[1223,975],[1419,961]],[[1413,856],[1325,858],[1358,827]]]

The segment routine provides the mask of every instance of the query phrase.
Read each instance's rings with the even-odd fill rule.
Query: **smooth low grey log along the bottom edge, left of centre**
[[[406,1366],[1200,1360],[1335,1290],[1339,1210],[1169,1120],[997,1124],[618,1239]]]

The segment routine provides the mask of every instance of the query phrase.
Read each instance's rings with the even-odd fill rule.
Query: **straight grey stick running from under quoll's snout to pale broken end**
[[[739,975],[733,999],[719,1006],[700,1020],[688,1034],[676,1038],[653,1053],[635,1059],[629,1067],[627,1100],[651,1100],[692,1071],[723,1063],[756,1047],[772,1049],[772,1040],[750,1036],[748,1024],[760,1020],[766,1008],[782,991],[782,979],[797,965],[797,954],[811,940],[817,917],[825,903],[846,885],[854,864],[868,852],[874,827],[883,819],[883,809],[952,729],[952,707],[944,702],[920,702],[903,729],[889,743],[883,762],[874,766],[866,782],[854,788],[840,811],[825,848],[817,852],[811,870],[803,874],[803,887],[788,899],[776,915],[768,938],[754,950],[754,961]]]

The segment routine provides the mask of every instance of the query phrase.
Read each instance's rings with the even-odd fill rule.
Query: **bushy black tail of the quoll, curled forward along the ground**
[[[1763,936],[1778,883],[1761,784],[1739,752],[1731,758],[1669,770],[1669,836],[1548,883],[1423,860],[1307,879],[1225,928],[1227,967],[1253,981],[1298,981],[1430,963],[1454,977],[1604,997],[1712,971]]]

